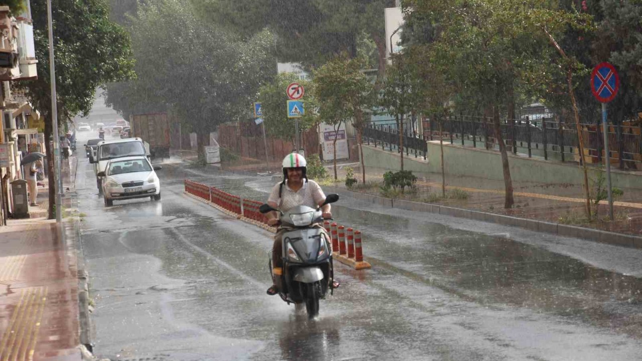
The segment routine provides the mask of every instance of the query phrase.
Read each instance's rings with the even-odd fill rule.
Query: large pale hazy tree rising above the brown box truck
[[[137,80],[108,86],[107,102],[123,114],[171,110],[202,151],[218,125],[247,119],[275,60],[269,31],[240,40],[195,12],[179,0],[139,5],[130,28]]]

